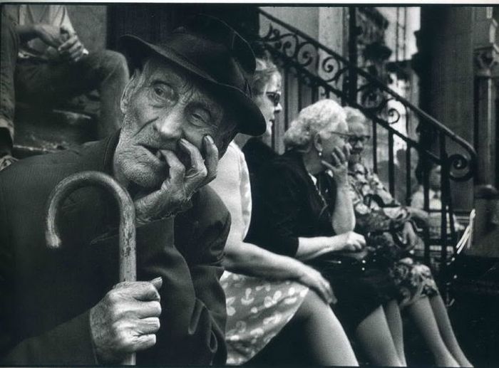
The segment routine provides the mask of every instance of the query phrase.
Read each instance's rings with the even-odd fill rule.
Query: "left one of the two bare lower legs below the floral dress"
[[[456,362],[451,352],[448,351],[446,343],[442,340],[428,298],[418,299],[408,305],[406,309],[433,353],[436,365],[439,367],[459,367],[458,362]]]

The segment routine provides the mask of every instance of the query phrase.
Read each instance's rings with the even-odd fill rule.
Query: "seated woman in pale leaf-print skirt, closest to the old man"
[[[254,101],[267,120],[281,110],[281,76],[274,64],[257,59],[252,80]],[[245,157],[231,142],[218,165],[212,186],[232,216],[225,246],[221,283],[227,298],[227,364],[252,359],[286,325],[299,329],[309,364],[358,365],[343,327],[329,308],[329,283],[313,268],[293,258],[265,251],[243,241],[251,216],[252,196]],[[287,337],[289,339],[290,337]],[[267,348],[268,349],[268,348]]]

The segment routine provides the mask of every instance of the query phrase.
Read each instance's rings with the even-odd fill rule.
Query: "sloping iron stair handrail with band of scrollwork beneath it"
[[[369,74],[366,70],[351,65],[344,57],[335,53],[297,28],[286,24],[260,9],[260,14],[269,21],[267,32],[258,41],[272,53],[275,61],[300,78],[301,82],[317,90],[316,98],[329,97],[331,94],[341,98],[348,105],[359,108],[364,115],[376,124],[396,135],[418,151],[425,149],[423,144],[412,140],[393,128],[403,117],[414,117],[422,127],[428,127],[445,139],[461,147],[458,152],[446,158],[449,178],[462,182],[473,177],[476,153],[473,147],[456,136],[437,120],[433,119],[405,98],[391,90],[385,83]],[[349,83],[354,83],[350,85]],[[345,84],[347,87],[345,88]],[[349,95],[353,91],[354,95]],[[437,164],[443,158],[438,154],[426,152]]]

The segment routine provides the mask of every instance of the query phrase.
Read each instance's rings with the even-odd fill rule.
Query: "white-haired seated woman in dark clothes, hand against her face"
[[[284,135],[289,150],[259,172],[249,240],[307,262],[327,253],[360,251],[364,237],[351,231],[355,219],[347,180],[347,137],[345,113],[333,100],[321,100],[299,113]],[[330,198],[321,195],[314,177],[326,169],[334,173],[336,183]],[[386,271],[362,265],[324,272],[338,298],[334,311],[372,363],[401,366],[394,341],[401,340],[396,288]]]

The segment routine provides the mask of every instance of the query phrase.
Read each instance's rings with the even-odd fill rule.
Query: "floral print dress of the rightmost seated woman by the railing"
[[[386,191],[379,177],[363,164],[349,169],[350,194],[354,204],[356,231],[367,238],[368,245],[388,260],[391,278],[398,288],[401,307],[411,305],[419,298],[438,294],[428,266],[415,261],[403,248],[399,231],[410,214]],[[420,239],[421,240],[421,239]]]

